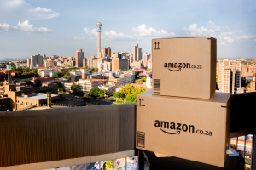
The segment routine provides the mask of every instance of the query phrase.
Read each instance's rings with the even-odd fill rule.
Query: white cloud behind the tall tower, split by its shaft
[[[90,30],[90,28],[84,27],[83,30],[86,34],[89,36],[97,36],[96,28]],[[119,40],[119,39],[134,39],[132,36],[125,35],[124,33],[117,33],[116,31],[102,31],[101,32],[101,38],[102,39],[108,39],[108,40]]]

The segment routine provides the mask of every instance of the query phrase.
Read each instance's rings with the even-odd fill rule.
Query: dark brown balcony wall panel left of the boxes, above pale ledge
[[[136,104],[0,112],[0,167],[135,148]]]

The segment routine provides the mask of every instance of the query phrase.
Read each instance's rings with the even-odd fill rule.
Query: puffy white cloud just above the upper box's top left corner
[[[151,37],[173,37],[176,36],[173,32],[168,32],[165,30],[156,31],[155,28],[149,27],[145,24],[138,26],[137,28],[132,28],[131,31],[135,31],[139,36],[151,36]]]

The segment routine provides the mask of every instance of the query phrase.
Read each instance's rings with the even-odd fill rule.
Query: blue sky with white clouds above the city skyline
[[[218,57],[256,58],[255,0],[87,1],[0,0],[0,58],[34,54],[96,55],[96,23],[102,48],[151,53],[151,39],[217,38]]]

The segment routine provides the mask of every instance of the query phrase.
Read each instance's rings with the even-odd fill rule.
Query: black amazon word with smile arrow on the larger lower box
[[[154,121],[154,127],[160,127],[160,130],[167,134],[180,134],[181,131],[194,133],[195,127],[194,125],[186,125],[182,123],[175,123],[175,122],[166,122],[166,121]],[[166,129],[173,130],[172,132],[166,131]]]

